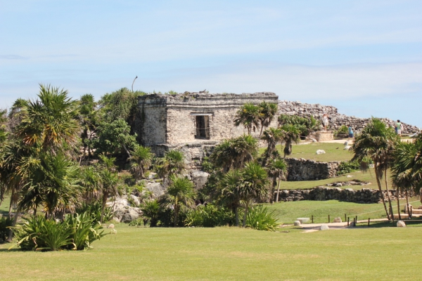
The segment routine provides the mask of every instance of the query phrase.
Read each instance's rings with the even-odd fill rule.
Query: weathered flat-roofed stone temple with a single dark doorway
[[[275,93],[185,92],[177,95],[139,96],[139,142],[161,157],[170,149],[182,150],[192,167],[226,138],[247,133],[234,126],[236,111],[244,103],[279,103]],[[270,126],[276,126],[276,118]],[[259,131],[254,133],[256,136]]]

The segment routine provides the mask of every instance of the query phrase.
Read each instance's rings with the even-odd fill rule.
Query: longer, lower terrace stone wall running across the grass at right
[[[388,200],[387,191],[383,190],[383,196],[385,200]],[[397,199],[397,192],[390,190],[390,198],[392,200]],[[274,196],[275,198],[275,196]],[[400,199],[404,199],[402,195],[399,195]],[[301,200],[312,200],[312,201],[326,201],[326,200],[340,200],[345,202],[354,203],[378,203],[381,202],[381,192],[379,190],[373,190],[371,188],[362,188],[362,190],[353,190],[352,188],[326,188],[324,186],[318,186],[312,189],[300,189],[300,190],[280,190],[279,201],[301,201]]]

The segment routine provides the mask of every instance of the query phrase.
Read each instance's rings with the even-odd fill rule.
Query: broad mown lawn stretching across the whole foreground
[[[134,228],[89,251],[7,251],[2,280],[419,280],[421,228]]]

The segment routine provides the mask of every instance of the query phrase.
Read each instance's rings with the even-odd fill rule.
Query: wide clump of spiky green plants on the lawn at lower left
[[[13,233],[23,250],[60,249],[83,250],[91,248],[91,243],[104,236],[101,224],[91,218],[91,214],[68,214],[61,222],[44,216],[24,218],[13,227]]]

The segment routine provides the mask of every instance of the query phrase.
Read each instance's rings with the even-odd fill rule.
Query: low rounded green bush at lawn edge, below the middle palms
[[[234,224],[234,215],[231,211],[216,207],[212,204],[200,205],[186,213],[184,226],[202,226],[212,228]]]

